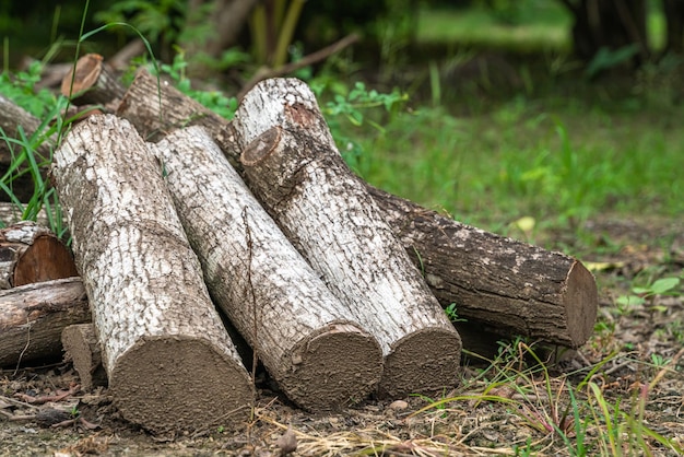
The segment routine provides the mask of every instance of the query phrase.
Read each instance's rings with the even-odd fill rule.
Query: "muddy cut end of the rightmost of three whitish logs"
[[[441,394],[457,386],[460,362],[461,339],[456,330],[425,328],[410,333],[386,356],[378,396]]]

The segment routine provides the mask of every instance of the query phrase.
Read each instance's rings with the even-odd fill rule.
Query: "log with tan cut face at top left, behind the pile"
[[[98,54],[81,57],[62,79],[61,93],[74,105],[109,105],[123,97],[126,87]]]

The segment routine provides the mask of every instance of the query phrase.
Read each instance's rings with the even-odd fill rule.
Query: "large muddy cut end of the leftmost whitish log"
[[[255,395],[236,360],[174,337],[139,341],[117,361],[109,386],[121,414],[153,433],[241,426]]]

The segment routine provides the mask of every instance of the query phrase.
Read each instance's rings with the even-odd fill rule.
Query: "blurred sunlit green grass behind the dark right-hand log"
[[[579,225],[606,212],[684,213],[675,113],[556,105],[518,97],[474,117],[401,113],[384,132],[357,131],[365,152],[354,166],[380,188],[487,228],[521,216]]]

